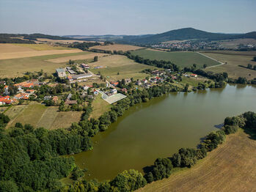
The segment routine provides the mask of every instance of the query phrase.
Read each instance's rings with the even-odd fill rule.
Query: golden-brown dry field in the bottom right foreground
[[[240,130],[191,169],[138,191],[256,191],[256,141]]]

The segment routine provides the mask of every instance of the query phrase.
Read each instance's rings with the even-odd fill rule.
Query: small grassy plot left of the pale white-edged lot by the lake
[[[92,114],[90,117],[93,117],[95,119],[98,119],[100,115],[105,113],[106,111],[110,111],[110,105],[105,100],[101,98],[101,95],[99,94],[95,100],[92,101]]]

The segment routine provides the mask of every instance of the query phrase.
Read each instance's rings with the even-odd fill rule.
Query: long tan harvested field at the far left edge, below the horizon
[[[68,49],[68,50],[51,50],[51,51],[21,51],[15,53],[0,53],[0,59],[17,59],[32,56],[45,56],[65,53],[78,53],[81,52],[79,49]]]

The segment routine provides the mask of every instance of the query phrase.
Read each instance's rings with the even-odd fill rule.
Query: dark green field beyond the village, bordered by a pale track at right
[[[195,52],[164,52],[143,49],[132,51],[131,53],[142,56],[145,59],[170,61],[180,67],[190,67],[192,64],[197,64],[197,67],[202,67],[203,64],[207,64],[209,67],[219,64],[219,62],[213,61]]]

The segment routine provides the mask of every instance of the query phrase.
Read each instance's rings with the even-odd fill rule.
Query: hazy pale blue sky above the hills
[[[0,33],[256,31],[256,0],[0,0]]]

